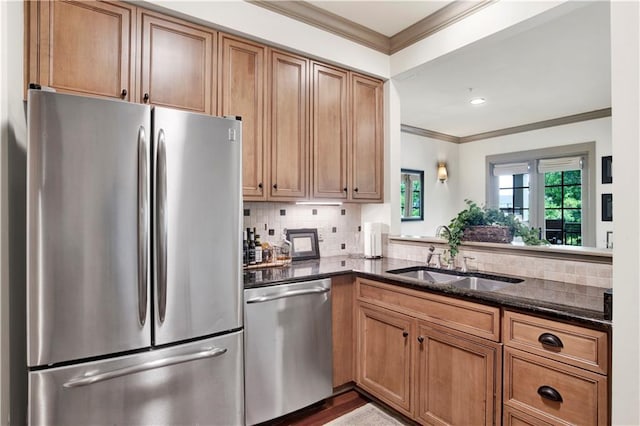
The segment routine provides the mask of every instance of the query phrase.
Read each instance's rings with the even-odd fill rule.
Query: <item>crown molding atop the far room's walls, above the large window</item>
[[[420,127],[409,126],[407,124],[400,125],[400,131],[413,135],[424,136],[427,138],[437,139],[444,142],[452,143],[468,143],[479,141],[482,139],[496,138],[499,136],[513,135],[515,133],[530,132],[532,130],[546,129],[549,127],[563,126],[565,124],[579,123],[581,121],[596,120],[598,118],[611,117],[611,108],[597,109],[579,114],[567,115],[550,120],[537,121],[535,123],[522,124],[520,126],[507,127],[504,129],[491,130],[489,132],[476,133],[469,136],[453,136],[446,133],[427,130]]]

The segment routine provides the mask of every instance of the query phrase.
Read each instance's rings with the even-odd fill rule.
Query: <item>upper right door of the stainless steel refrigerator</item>
[[[242,326],[241,122],[154,108],[154,342]]]

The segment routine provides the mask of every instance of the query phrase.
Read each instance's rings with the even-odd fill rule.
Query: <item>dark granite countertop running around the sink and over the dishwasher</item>
[[[369,260],[348,256],[325,257],[293,262],[286,267],[245,270],[244,287],[264,287],[354,273],[361,277],[450,297],[596,327],[611,327],[611,321],[607,320],[604,314],[604,288],[519,277],[524,281],[499,290],[469,290],[387,273],[390,270],[411,266],[425,264],[387,258]]]

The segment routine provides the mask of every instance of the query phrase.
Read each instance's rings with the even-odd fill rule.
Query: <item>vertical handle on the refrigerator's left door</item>
[[[149,265],[149,169],[147,140],[143,126],[138,129],[138,320],[147,320],[147,270]]]

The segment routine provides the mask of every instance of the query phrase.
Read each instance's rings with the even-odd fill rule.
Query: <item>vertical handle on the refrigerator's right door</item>
[[[163,129],[158,132],[157,160],[158,317],[160,323],[163,323],[167,313],[167,150]]]

